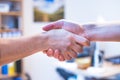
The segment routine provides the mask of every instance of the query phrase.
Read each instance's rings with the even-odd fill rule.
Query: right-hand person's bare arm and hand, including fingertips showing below
[[[65,29],[79,36],[87,38],[89,41],[120,41],[120,24],[85,24],[60,20],[43,27],[43,30]],[[56,50],[48,49],[44,51],[48,56],[60,59],[61,53]],[[56,56],[57,55],[57,56]]]

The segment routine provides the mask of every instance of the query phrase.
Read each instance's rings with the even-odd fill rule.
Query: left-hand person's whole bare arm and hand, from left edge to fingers
[[[64,37],[64,38],[63,38]],[[81,44],[82,42],[82,44]],[[80,52],[79,45],[88,45],[86,38],[72,34],[64,29],[51,30],[30,37],[0,38],[0,65],[19,60],[35,52],[56,50],[61,52],[62,57],[77,56],[76,50]],[[64,60],[64,58],[60,58]],[[68,57],[69,58],[69,57]]]

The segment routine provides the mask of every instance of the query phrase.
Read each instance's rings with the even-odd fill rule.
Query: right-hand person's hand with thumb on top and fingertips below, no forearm
[[[69,32],[85,37],[84,27],[72,22],[67,22],[65,20],[59,20],[43,27],[43,30],[45,31],[49,31],[51,29],[65,29]],[[84,46],[88,46],[88,45],[89,44],[86,44]],[[46,53],[48,56],[54,56],[55,58],[61,60],[60,52],[58,50],[53,51],[52,49],[48,49],[44,51],[44,53]]]

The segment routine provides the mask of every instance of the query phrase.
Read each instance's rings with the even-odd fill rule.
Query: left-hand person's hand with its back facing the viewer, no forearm
[[[88,45],[86,38],[70,33],[64,29],[50,30],[45,33],[47,36],[46,46],[56,53],[61,53],[61,60],[69,60],[77,56],[82,51],[82,46]],[[65,59],[64,59],[64,58]]]

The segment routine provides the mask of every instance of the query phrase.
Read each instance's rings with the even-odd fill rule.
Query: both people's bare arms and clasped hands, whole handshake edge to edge
[[[82,52],[90,41],[120,42],[120,24],[85,24],[60,20],[43,27],[46,32],[19,38],[0,38],[0,65],[43,51],[60,61]],[[12,47],[11,47],[12,45]]]

